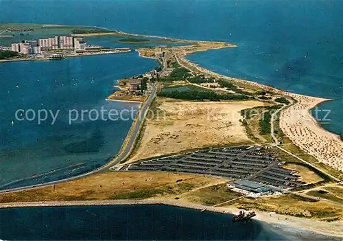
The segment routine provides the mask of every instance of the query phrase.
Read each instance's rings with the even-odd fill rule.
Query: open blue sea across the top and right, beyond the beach
[[[343,135],[342,1],[3,0],[0,5],[1,21],[8,23],[97,25],[237,43],[235,49],[189,59],[227,76],[332,98],[334,102],[319,106],[331,111],[331,124],[323,127]]]

